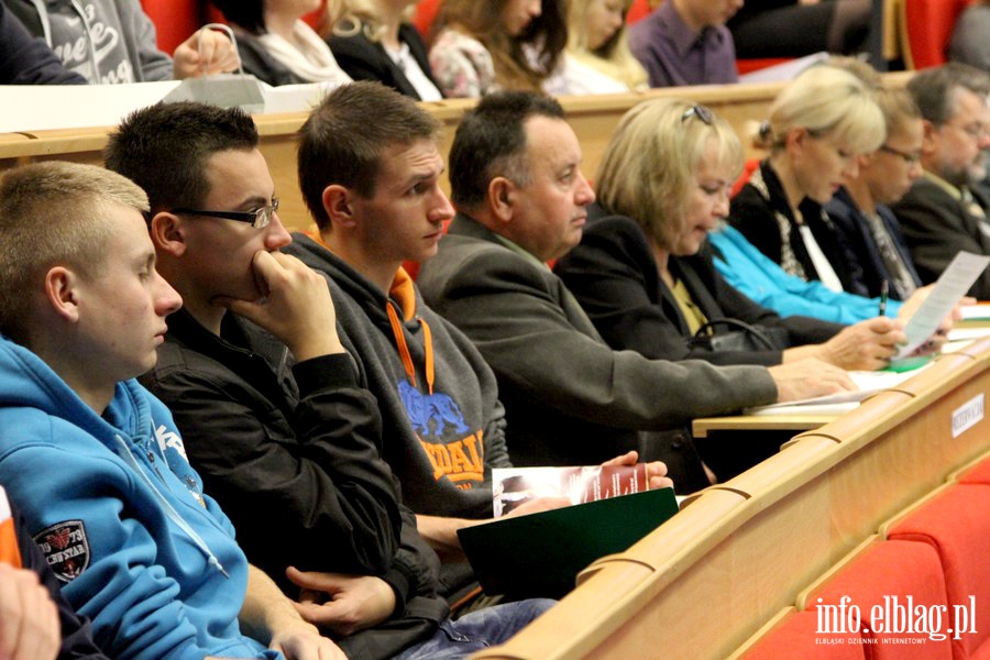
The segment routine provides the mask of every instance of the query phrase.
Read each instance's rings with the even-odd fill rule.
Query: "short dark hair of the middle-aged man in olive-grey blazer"
[[[499,91],[482,98],[464,114],[450,147],[451,200],[463,209],[476,208],[488,194],[488,183],[505,176],[524,186],[529,179],[526,129],[531,117],[563,119],[554,99],[530,91]]]

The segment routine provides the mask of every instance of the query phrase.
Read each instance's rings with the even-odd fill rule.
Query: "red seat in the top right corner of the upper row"
[[[946,62],[956,19],[972,0],[903,0],[901,43],[904,66],[923,69]]]

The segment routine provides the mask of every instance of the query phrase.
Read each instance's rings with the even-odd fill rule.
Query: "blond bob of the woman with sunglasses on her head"
[[[710,124],[694,107],[668,98],[635,106],[619,120],[595,177],[598,204],[632,218],[657,241],[664,223],[684,213],[710,144],[718,167],[733,177],[743,168],[743,145],[728,122],[712,116]]]

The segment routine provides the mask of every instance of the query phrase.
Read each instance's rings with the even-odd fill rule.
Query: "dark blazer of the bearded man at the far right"
[[[926,284],[938,279],[960,250],[990,254],[990,237],[980,229],[986,220],[969,213],[961,201],[927,177],[914,182],[891,208],[904,231],[917,274]],[[969,295],[990,300],[990,268],[983,271]]]

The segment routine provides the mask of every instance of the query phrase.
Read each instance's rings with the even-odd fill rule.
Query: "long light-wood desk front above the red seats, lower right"
[[[475,660],[724,659],[880,526],[990,450],[954,417],[990,388],[990,340],[704,491]]]

